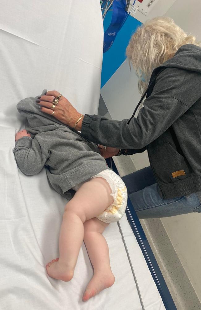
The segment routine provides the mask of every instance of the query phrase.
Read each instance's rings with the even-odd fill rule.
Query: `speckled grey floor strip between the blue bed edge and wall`
[[[102,97],[99,102],[99,115],[111,116]],[[130,156],[113,157],[120,176],[136,171]],[[142,219],[140,223],[155,255],[177,310],[199,310],[201,304],[193,286],[174,250],[160,219]]]

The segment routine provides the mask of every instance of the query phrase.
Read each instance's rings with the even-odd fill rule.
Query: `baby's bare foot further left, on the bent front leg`
[[[62,280],[62,281],[71,281],[74,270],[68,271],[66,265],[59,263],[59,258],[53,259],[46,265],[47,273],[50,277]]]

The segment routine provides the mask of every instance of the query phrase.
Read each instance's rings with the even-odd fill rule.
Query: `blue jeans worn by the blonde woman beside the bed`
[[[171,199],[161,198],[151,166],[125,175],[122,180],[139,219],[201,212],[196,193]]]

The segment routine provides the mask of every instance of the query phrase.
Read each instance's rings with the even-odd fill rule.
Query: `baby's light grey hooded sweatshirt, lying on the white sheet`
[[[43,113],[36,99],[25,98],[17,104],[31,134],[31,138],[23,137],[15,144],[17,165],[26,175],[35,175],[45,166],[52,187],[70,200],[75,193],[72,187],[109,168],[96,144]]]

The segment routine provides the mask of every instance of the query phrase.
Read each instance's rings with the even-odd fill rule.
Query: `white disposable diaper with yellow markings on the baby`
[[[113,204],[110,205],[103,211],[100,215],[96,216],[97,219],[105,223],[114,223],[119,221],[125,213],[126,204],[127,204],[127,189],[126,185],[122,181],[122,179],[112,170],[106,169],[97,175],[93,176],[93,178],[104,178],[109,183],[114,201]],[[80,186],[84,182],[76,185],[72,189],[77,191]]]

